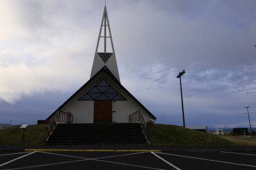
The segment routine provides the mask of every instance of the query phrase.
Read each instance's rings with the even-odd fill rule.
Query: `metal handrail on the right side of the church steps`
[[[139,123],[147,142],[150,143],[148,140],[147,124],[139,110],[129,115],[129,123]]]

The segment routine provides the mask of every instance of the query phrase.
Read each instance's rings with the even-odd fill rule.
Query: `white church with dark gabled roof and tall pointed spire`
[[[129,123],[129,116],[131,119],[131,114],[137,112],[146,123],[156,120],[121,85],[106,6],[89,81],[59,106],[46,122],[50,122],[58,112],[69,113],[73,124]]]

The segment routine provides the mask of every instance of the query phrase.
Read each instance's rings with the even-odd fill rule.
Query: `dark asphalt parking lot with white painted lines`
[[[0,169],[256,169],[256,151],[0,151]]]

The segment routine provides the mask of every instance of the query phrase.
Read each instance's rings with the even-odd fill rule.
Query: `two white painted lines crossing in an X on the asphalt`
[[[46,153],[46,152],[38,152],[38,153]],[[117,165],[126,165],[126,166],[131,166],[131,167],[139,167],[139,168],[143,168],[143,169],[164,170],[164,169],[158,169],[158,168],[153,168],[153,167],[145,167],[145,166],[141,166],[141,165],[132,165],[132,164],[127,164],[127,163],[117,163],[117,162],[113,162],[113,161],[100,160],[100,159],[104,159],[104,158],[121,157],[121,156],[125,156],[125,155],[135,155],[135,154],[141,154],[141,153],[130,153],[130,154],[124,154],[124,155],[113,155],[113,156],[98,157],[98,158],[75,157],[75,156],[71,156],[71,155],[63,155],[63,154],[57,154],[57,153],[46,153],[46,154],[65,156],[65,157],[73,157],[73,158],[82,159],[82,160],[65,161],[65,162],[61,162],[61,163],[50,163],[50,164],[44,164],[44,165],[34,165],[34,166],[29,166],[29,167],[18,167],[18,168],[12,168],[12,169],[13,170],[14,169],[28,169],[28,168],[34,168],[34,167],[45,167],[45,166],[50,166],[50,165],[61,165],[61,164],[65,164],[65,163],[75,163],[75,162],[79,162],[79,161],[90,161],[91,160],[91,161],[100,161],[100,162],[105,162],[105,163],[114,163],[114,164],[117,164]],[[11,170],[11,169],[9,169],[9,170]]]

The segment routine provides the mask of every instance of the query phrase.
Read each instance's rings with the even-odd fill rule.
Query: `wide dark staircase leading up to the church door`
[[[46,144],[146,144],[140,124],[57,124]]]

